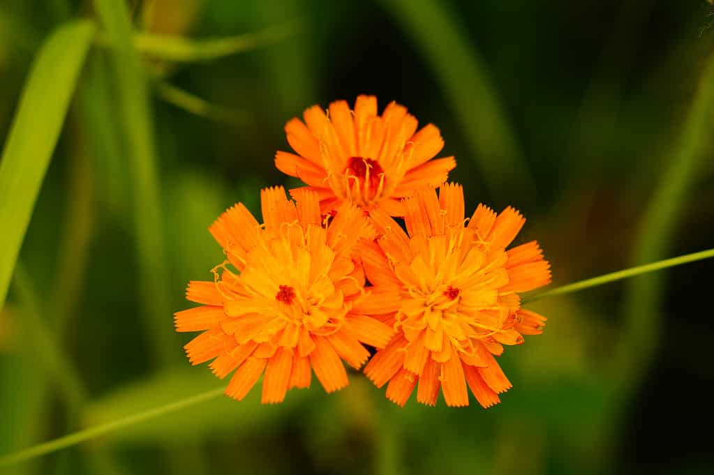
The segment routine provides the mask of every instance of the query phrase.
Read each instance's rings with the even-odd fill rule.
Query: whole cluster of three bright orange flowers
[[[286,126],[298,155],[276,166],[307,186],[261,191],[263,223],[241,203],[209,228],[227,260],[209,282],[188,285],[201,304],[175,314],[193,364],[213,360],[226,394],[243,399],[263,376],[262,402],[282,402],[315,373],[326,392],[348,384],[343,362],[364,367],[386,396],[483,407],[511,382],[503,345],[540,334],[545,317],[521,292],[550,282],[538,244],[507,249],[525,223],[513,208],[478,205],[465,219],[461,185],[444,183],[453,158],[431,124],[406,108],[360,96],[308,108]],[[438,188],[438,194],[436,192]],[[406,230],[394,219],[403,219]],[[368,347],[376,352],[370,359]]]

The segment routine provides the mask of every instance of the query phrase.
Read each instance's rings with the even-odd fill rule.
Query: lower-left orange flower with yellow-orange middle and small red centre
[[[262,190],[264,225],[241,203],[223,213],[209,230],[228,261],[214,282],[188,284],[186,297],[202,306],[175,315],[179,332],[203,332],[186,344],[191,363],[213,359],[219,378],[236,370],[226,394],[238,400],[263,373],[263,403],[308,387],[311,369],[326,392],[341,389],[348,384],[341,359],[359,369],[369,357],[362,344],[383,347],[393,334],[365,315],[376,297],[351,258],[357,242],[373,236],[368,219],[346,204],[323,222],[315,193],[296,199],[283,188]]]

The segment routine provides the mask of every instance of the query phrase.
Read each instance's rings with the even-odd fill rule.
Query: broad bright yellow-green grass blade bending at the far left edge
[[[22,91],[0,159],[0,307],[95,31],[88,20],[60,26]]]

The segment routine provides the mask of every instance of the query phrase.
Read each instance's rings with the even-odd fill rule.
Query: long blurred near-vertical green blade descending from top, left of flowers
[[[129,11],[123,1],[95,0],[94,5],[112,45],[111,58],[118,88],[121,124],[129,143],[134,172],[134,225],[139,253],[139,289],[144,301],[154,357],[171,362],[180,349],[171,325],[169,275],[164,256],[164,233],[159,205],[159,180],[149,103],[149,83],[132,42]]]

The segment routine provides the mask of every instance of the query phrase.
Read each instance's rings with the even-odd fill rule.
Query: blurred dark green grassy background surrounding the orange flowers
[[[258,36],[139,63],[117,46],[126,12],[148,34]],[[521,209],[518,240],[542,243],[555,285],[713,247],[713,14],[697,0],[0,0],[3,143],[51,32],[99,28],[0,311],[0,454],[224,384],[189,367],[171,314],[223,259],[213,219],[296,185],[273,154],[314,103],[371,93],[435,123],[467,209]],[[29,141],[48,140],[39,127]],[[279,406],[253,389],[0,472],[712,473],[713,270],[535,302],[545,333],[506,350],[514,388],[488,410],[399,409],[354,373],[329,397],[314,379]]]

